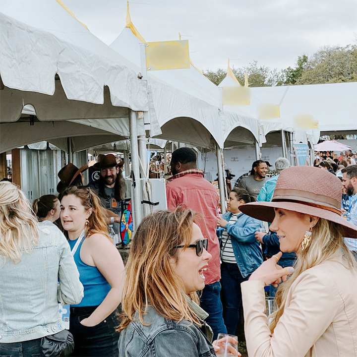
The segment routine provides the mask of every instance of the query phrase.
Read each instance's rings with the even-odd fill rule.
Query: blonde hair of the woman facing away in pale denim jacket
[[[0,182],[0,255],[14,263],[22,251],[38,244],[38,223],[25,194],[13,183]]]

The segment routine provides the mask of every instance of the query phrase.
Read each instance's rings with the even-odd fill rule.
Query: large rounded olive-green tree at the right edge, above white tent
[[[296,84],[357,81],[357,45],[323,47],[306,62]]]

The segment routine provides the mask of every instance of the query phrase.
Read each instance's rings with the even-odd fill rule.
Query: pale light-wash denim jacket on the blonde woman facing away
[[[83,297],[66,238],[55,226],[38,229],[38,245],[30,253],[24,250],[19,263],[0,255],[0,343],[63,330],[58,302],[76,304]]]

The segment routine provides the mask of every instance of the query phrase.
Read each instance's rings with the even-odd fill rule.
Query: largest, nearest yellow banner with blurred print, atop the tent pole
[[[188,40],[147,42],[147,70],[189,68]]]

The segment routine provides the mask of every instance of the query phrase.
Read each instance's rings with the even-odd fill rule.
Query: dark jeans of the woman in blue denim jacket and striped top
[[[240,283],[248,280],[249,276],[243,278],[237,264],[221,264],[221,284],[223,319],[227,326],[227,333],[235,335],[239,321],[239,307],[241,305]]]

